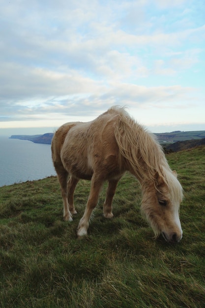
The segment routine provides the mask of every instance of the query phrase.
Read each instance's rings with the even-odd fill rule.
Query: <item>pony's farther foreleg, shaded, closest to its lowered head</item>
[[[106,199],[103,204],[103,214],[106,218],[112,218],[113,213],[112,213],[112,203],[113,203],[113,197],[116,192],[116,187],[117,187],[118,179],[117,180],[111,180],[108,182],[108,189],[106,193]]]

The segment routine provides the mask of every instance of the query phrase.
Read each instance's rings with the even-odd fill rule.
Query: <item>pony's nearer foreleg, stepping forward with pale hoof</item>
[[[97,205],[98,196],[100,193],[100,189],[102,187],[102,183],[103,183],[102,181],[97,181],[94,179],[91,180],[91,188],[90,188],[88,202],[86,205],[86,210],[78,225],[78,231],[77,231],[78,236],[83,236],[88,234],[87,231],[89,226],[89,218],[93,209]]]

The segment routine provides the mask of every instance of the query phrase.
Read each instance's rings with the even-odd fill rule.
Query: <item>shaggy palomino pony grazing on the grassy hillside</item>
[[[113,217],[112,201],[117,183],[129,171],[142,187],[141,210],[155,237],[162,233],[167,242],[182,238],[179,205],[182,187],[154,135],[148,133],[120,107],[112,107],[97,119],[71,122],[59,127],[52,140],[52,158],[63,199],[63,217],[76,214],[74,191],[80,179],[91,180],[86,210],[77,235],[87,235],[89,218],[100,189],[108,181],[103,213]],[[68,180],[68,176],[69,180]]]

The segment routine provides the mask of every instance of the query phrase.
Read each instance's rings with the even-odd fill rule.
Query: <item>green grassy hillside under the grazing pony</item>
[[[76,229],[89,182],[77,186],[72,223],[62,220],[56,177],[0,187],[0,307],[205,307],[205,147],[167,158],[185,195],[177,245],[153,239],[128,174],[114,219],[102,216],[105,185],[82,239]]]

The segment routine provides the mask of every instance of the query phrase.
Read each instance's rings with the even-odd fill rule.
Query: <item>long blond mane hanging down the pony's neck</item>
[[[116,114],[114,127],[120,156],[129,161],[138,179],[152,181],[156,185],[156,174],[158,174],[170,191],[174,192],[176,198],[181,199],[181,185],[173,175],[155,135],[136,123],[122,107],[112,107],[108,113]]]

